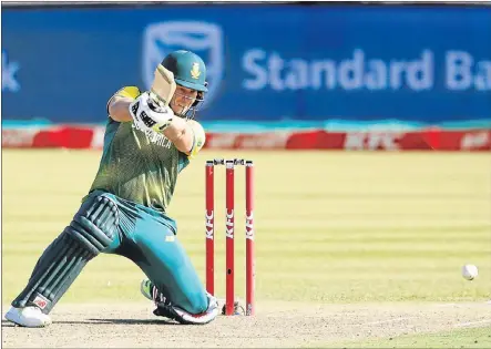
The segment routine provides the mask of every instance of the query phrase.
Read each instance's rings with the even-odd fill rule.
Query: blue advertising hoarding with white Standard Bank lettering
[[[204,121],[491,119],[491,8],[2,9],[2,119],[101,123],[175,49],[208,66]]]

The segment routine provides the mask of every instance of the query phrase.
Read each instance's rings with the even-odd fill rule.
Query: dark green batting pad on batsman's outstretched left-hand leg
[[[89,197],[39,258],[28,285],[12,306],[35,305],[49,314],[88,261],[111,245],[117,224],[114,202],[103,195]]]

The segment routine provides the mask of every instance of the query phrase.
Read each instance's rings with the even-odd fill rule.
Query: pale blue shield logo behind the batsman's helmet
[[[143,82],[150,89],[155,68],[165,55],[175,50],[190,50],[206,64],[208,93],[203,107],[215,96],[223,76],[223,34],[213,23],[198,21],[170,21],[145,28],[143,38]]]

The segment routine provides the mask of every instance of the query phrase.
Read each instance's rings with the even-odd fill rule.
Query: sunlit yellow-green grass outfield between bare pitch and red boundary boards
[[[204,280],[204,163],[256,164],[256,296],[313,302],[491,299],[489,153],[209,152],[182,174],[170,215]],[[2,151],[2,302],[68,225],[95,151]],[[216,287],[225,290],[224,168],[216,171]],[[244,297],[244,170],[236,171],[236,290]],[[463,264],[479,267],[473,281]],[[125,258],[91,261],[61,302],[141,300]]]

